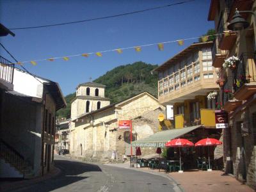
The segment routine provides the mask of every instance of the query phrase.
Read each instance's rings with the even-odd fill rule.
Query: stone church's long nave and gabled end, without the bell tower
[[[132,120],[132,140],[136,140],[157,131],[159,110],[162,111],[163,106],[159,105],[158,100],[143,92],[122,102],[72,118],[71,156],[101,161],[111,157],[120,159],[123,154],[129,156],[130,130],[119,129],[119,120]],[[147,113],[151,115],[148,115],[148,118],[143,117],[143,114]],[[141,118],[145,119],[145,122],[140,121]]]

